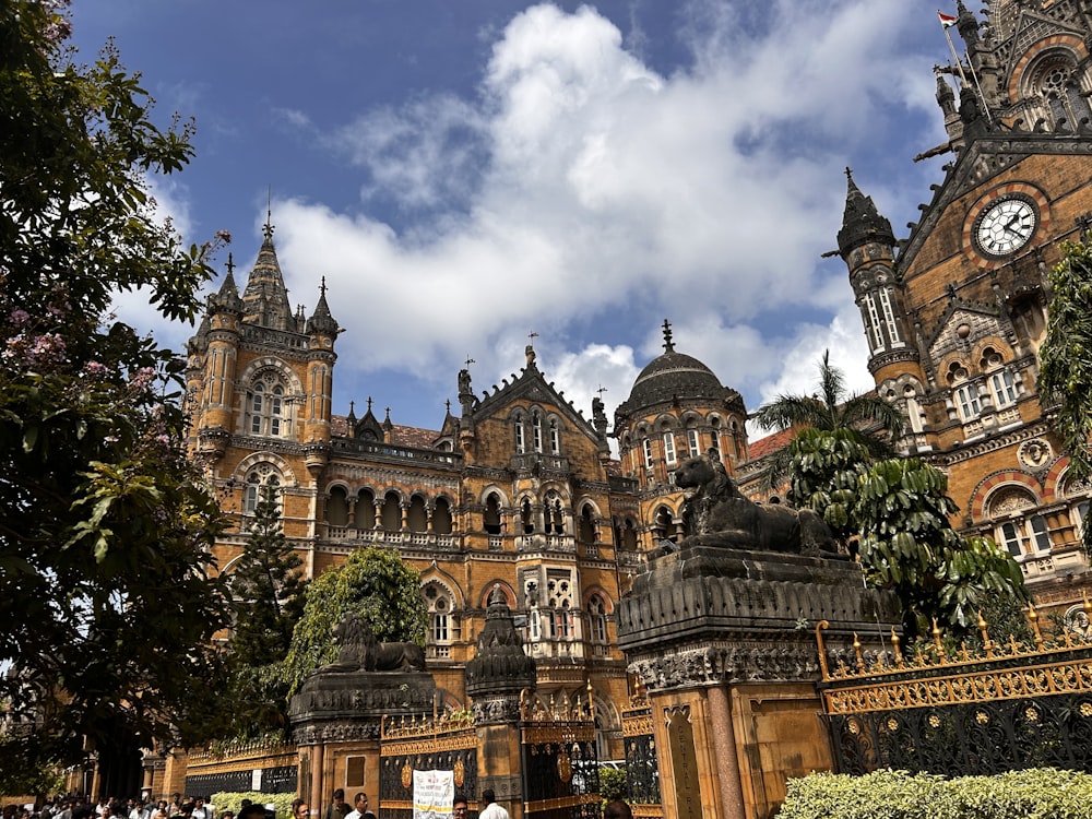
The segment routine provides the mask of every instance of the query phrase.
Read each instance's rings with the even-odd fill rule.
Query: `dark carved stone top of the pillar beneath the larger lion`
[[[650,560],[617,616],[630,670],[653,690],[815,680],[818,621],[835,652],[854,633],[875,650],[899,622],[894,596],[865,589],[850,560],[701,546]]]

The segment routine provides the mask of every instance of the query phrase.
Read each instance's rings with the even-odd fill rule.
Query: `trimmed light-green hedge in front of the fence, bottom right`
[[[1092,775],[1032,768],[996,776],[876,771],[790,780],[779,819],[1092,819]]]

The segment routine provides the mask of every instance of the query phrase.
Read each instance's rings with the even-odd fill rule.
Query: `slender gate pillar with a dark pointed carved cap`
[[[523,816],[520,778],[520,697],[534,691],[537,669],[523,644],[505,593],[495,586],[489,594],[485,627],[478,634],[477,652],[466,664],[466,693],[478,725],[478,787],[491,787],[497,802],[512,819]],[[480,791],[473,794],[478,798]]]

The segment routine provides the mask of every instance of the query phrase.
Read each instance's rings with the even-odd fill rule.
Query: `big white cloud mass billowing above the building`
[[[892,105],[933,104],[900,43],[913,10],[688,8],[693,63],[670,75],[593,9],[543,4],[496,35],[475,98],[363,111],[324,138],[363,169],[365,211],[381,197],[424,214],[396,233],[275,203],[293,301],[310,308],[324,275],[351,331],[340,379],[397,367],[447,385],[467,353],[475,373],[507,373],[538,330],[544,371],[587,415],[600,385],[608,407],[628,395],[666,316],[678,348],[751,408],[814,381],[824,347],[870,387],[844,273],[818,257],[834,245],[846,155]]]

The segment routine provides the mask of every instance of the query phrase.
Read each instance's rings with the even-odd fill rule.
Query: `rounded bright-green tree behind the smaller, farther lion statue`
[[[428,612],[420,595],[420,574],[394,549],[358,548],[343,566],[312,580],[304,598],[304,616],[281,668],[289,695],[310,672],[337,658],[333,631],[348,612],[364,617],[381,642],[425,644]]]

